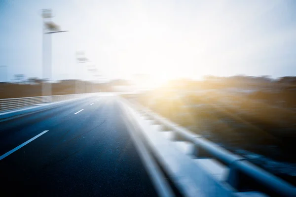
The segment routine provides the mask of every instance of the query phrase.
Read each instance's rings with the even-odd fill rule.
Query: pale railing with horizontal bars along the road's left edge
[[[42,103],[51,103],[67,99],[75,99],[85,96],[86,94],[72,94],[72,95],[54,95],[43,97],[24,97],[13,99],[0,99],[0,112],[24,108]]]

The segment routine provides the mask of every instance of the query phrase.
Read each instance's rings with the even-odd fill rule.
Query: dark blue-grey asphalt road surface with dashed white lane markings
[[[0,156],[0,197],[157,196],[112,96],[1,122]]]

